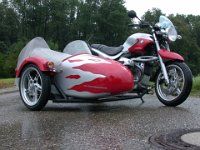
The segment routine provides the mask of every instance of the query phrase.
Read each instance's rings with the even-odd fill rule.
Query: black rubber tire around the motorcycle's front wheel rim
[[[156,76],[155,91],[156,91],[156,95],[161,103],[163,103],[166,106],[175,107],[175,106],[182,104],[188,98],[188,96],[192,90],[192,82],[193,82],[192,81],[192,72],[191,72],[190,68],[184,62],[170,62],[170,63],[166,64],[166,67],[169,65],[176,65],[176,66],[180,67],[183,71],[184,78],[185,78],[185,84],[184,84],[181,94],[172,101],[166,101],[162,97],[160,97],[160,95],[158,94],[158,89],[157,89],[157,79],[160,74],[160,71]]]

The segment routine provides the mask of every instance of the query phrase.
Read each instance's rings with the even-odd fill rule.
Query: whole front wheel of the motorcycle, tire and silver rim
[[[185,63],[173,62],[166,65],[169,84],[165,83],[160,72],[156,80],[156,95],[166,106],[177,106],[183,103],[192,89],[192,73]]]

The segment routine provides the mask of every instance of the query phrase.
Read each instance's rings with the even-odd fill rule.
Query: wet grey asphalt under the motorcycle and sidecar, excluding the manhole
[[[155,96],[102,104],[55,104],[43,111],[25,108],[18,93],[0,95],[0,150],[159,149],[150,136],[200,128],[200,99],[176,108]]]

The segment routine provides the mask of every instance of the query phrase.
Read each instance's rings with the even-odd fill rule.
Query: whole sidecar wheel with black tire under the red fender
[[[48,102],[51,91],[50,77],[35,65],[26,66],[19,82],[20,96],[25,106],[33,111],[41,110]]]

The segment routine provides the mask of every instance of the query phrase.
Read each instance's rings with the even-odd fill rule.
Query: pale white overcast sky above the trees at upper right
[[[200,15],[200,0],[125,0],[128,10],[141,17],[148,9],[159,8],[164,14]]]

